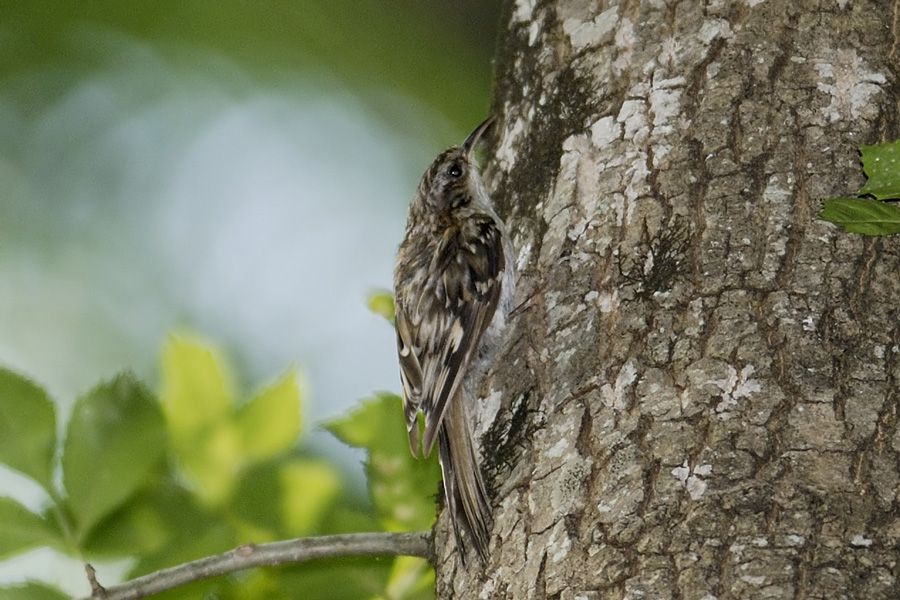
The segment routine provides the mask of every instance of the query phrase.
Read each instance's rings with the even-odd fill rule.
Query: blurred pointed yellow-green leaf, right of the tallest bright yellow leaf
[[[237,426],[250,460],[265,460],[292,448],[300,436],[297,374],[289,372],[241,407]]]

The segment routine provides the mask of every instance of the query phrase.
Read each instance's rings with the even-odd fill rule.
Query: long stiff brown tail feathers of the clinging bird
[[[465,531],[484,563],[490,541],[491,506],[462,400],[457,397],[448,403],[449,407],[438,432],[438,457],[459,554],[465,563],[466,545],[462,535]]]

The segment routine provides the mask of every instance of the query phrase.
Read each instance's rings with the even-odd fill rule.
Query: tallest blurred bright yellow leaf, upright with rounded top
[[[233,398],[227,367],[215,348],[188,334],[169,336],[160,402],[176,443],[229,417]]]

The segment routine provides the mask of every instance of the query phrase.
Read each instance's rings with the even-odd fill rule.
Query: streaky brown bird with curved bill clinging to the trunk
[[[437,444],[460,557],[465,563],[467,537],[482,564],[488,556],[491,505],[469,409],[475,382],[501,347],[515,289],[510,237],[474,157],[493,123],[488,117],[461,145],[440,153],[422,175],[394,270],[410,450],[427,457]]]

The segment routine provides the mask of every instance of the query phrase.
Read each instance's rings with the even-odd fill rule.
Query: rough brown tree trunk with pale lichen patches
[[[521,271],[440,598],[900,598],[900,239],[817,219],[900,137],[900,2],[510,2]]]

